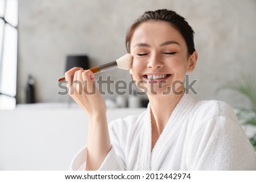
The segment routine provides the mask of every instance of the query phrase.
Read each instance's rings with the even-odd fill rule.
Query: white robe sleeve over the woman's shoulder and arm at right
[[[188,125],[191,129],[188,153],[192,168],[196,170],[255,168],[253,147],[229,104],[217,100],[199,101],[195,105]]]

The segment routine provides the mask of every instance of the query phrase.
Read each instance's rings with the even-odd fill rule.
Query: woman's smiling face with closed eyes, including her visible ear
[[[167,22],[139,25],[130,50],[133,56],[130,73],[138,87],[151,95],[174,93],[180,86],[184,89],[185,73],[194,69],[197,59],[196,52],[188,55],[183,36]]]

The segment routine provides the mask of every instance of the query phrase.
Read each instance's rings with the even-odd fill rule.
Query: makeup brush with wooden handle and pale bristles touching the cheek
[[[124,56],[120,57],[117,61],[112,61],[101,66],[92,67],[89,70],[91,70],[92,73],[109,71],[115,68],[130,70],[132,63],[133,63],[133,57],[131,56],[131,54],[125,54]],[[59,82],[61,81],[65,81],[65,77],[60,78]]]

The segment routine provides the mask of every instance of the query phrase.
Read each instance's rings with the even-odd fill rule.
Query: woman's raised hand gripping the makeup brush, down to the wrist
[[[84,108],[89,117],[106,113],[106,103],[96,88],[92,71],[73,67],[65,73],[65,80],[68,81],[69,95]]]

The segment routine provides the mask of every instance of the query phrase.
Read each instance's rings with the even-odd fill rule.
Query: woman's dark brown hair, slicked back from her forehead
[[[195,44],[194,44],[194,36],[193,36],[193,29],[189,26],[188,22],[182,16],[176,14],[175,11],[171,10],[156,10],[156,11],[146,11],[144,14],[139,17],[135,22],[131,25],[126,33],[126,50],[130,53],[130,43],[131,38],[133,37],[133,33],[135,29],[144,22],[150,21],[163,21],[170,23],[174,28],[176,28],[187,44],[188,53],[191,55],[195,51]]]

